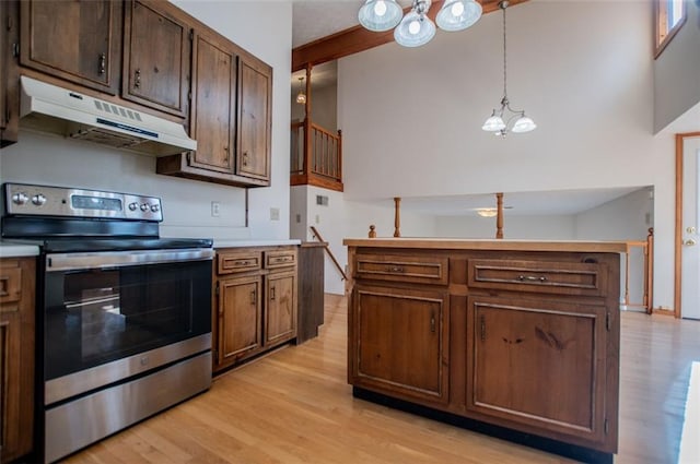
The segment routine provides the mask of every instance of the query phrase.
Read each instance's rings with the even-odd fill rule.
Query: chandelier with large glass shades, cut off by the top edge
[[[435,24],[428,17],[431,0],[413,0],[411,11],[404,10],[396,0],[366,0],[358,19],[365,28],[384,32],[394,28],[394,39],[404,47],[428,44],[435,35]],[[401,17],[402,16],[402,17]],[[445,0],[435,16],[443,31],[466,29],[481,17],[481,4],[475,0]]]

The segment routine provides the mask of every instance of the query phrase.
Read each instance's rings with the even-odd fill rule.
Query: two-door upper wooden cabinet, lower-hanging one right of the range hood
[[[197,151],[158,159],[159,174],[237,187],[270,185],[272,69],[195,29],[190,136]]]

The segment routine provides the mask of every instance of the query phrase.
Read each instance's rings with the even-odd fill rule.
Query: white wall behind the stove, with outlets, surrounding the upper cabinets
[[[273,68],[272,187],[249,190],[249,228],[244,227],[245,190],[160,176],[152,157],[85,142],[22,131],[20,142],[0,153],[0,181],[161,197],[163,235],[288,238],[291,4],[209,0],[175,3]],[[211,217],[214,200],[221,202],[220,217]],[[270,207],[280,209],[279,221],[270,221]]]

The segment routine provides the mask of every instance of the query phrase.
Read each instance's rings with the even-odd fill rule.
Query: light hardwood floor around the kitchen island
[[[209,392],[66,462],[571,462],[353,398],[346,383],[346,313],[345,298],[327,296],[318,338],[230,371]],[[700,361],[700,322],[623,313],[616,463],[677,462],[692,360]]]

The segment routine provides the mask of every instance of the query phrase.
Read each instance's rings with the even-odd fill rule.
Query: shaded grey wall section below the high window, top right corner
[[[700,2],[685,4],[686,24],[654,61],[655,132],[700,103]],[[700,119],[693,129],[700,129]]]

